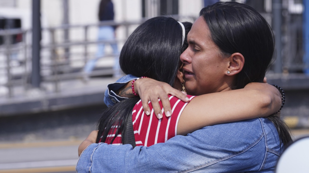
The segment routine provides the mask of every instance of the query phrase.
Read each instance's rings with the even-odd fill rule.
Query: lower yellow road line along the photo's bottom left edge
[[[75,171],[75,166],[6,169],[6,170],[0,170],[0,173],[41,173],[41,172],[61,172],[61,171],[62,172]]]

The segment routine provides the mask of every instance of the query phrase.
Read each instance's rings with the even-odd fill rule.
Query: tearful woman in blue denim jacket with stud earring
[[[231,13],[231,11],[234,13]],[[231,18],[234,18],[236,21],[233,21],[231,18],[229,18],[229,20],[239,24],[240,27],[238,25],[229,25],[226,26],[226,28],[222,27],[222,25],[224,26],[230,24],[226,21],[226,18],[228,17],[220,18],[221,16],[216,13],[219,13],[223,16],[227,14],[233,14],[234,16],[232,15]],[[220,92],[224,90],[243,88],[244,84],[250,80],[256,80],[259,82],[263,80],[262,78],[265,75],[265,71],[269,65],[269,62],[271,61],[273,54],[273,37],[265,19],[256,13],[257,12],[250,7],[239,5],[238,3],[216,3],[213,6],[208,6],[201,10],[201,17],[198,18],[197,21],[193,24],[192,30],[190,31],[191,34],[188,34],[189,47],[181,55],[181,61],[185,64],[184,75],[186,79],[187,90],[195,92],[198,95],[201,92]],[[212,18],[212,14],[215,16],[214,18]],[[246,14],[247,17],[244,17],[244,14]],[[252,14],[257,15],[257,17]],[[240,15],[243,18],[239,18],[237,15]],[[237,23],[239,21],[240,23]],[[253,23],[250,23],[252,21]],[[262,23],[264,26],[244,26],[248,25],[246,22],[249,22],[249,24],[252,25],[254,25],[254,22],[256,22],[258,25]],[[227,33],[231,34],[230,37],[234,39],[228,40],[229,37],[226,37],[227,35],[224,35],[225,37],[223,38],[220,37],[220,35],[218,36],[218,34],[222,33],[215,33],[216,31],[214,28],[216,27],[217,29],[218,27],[221,27],[221,30],[226,32],[222,32],[223,35]],[[244,31],[242,31],[242,29]],[[220,28],[218,30],[220,30]],[[261,36],[261,31],[263,31],[263,34],[265,34],[264,37]],[[252,35],[252,33],[256,35]],[[249,37],[249,39],[246,37]],[[248,40],[251,41],[250,37],[253,37],[257,43],[248,42]],[[225,40],[228,42],[227,45],[220,42],[224,39],[227,39]],[[265,45],[262,45],[261,43]],[[239,44],[240,46],[237,47],[235,44]],[[250,47],[252,44],[258,44],[260,47],[258,46],[255,49],[249,50],[244,50],[241,48],[241,46],[247,46],[246,48],[248,48],[248,46]],[[229,45],[233,45],[234,47],[229,47]],[[235,53],[234,49],[240,50],[239,52],[241,53],[238,51]],[[264,52],[259,52],[261,50]],[[252,57],[249,57],[248,55],[251,55]],[[221,61],[218,60],[218,56],[223,59],[223,62],[221,62],[222,59]],[[249,67],[244,66],[244,57],[246,57],[246,63],[251,65],[253,61],[256,63],[256,67],[254,67],[255,65],[251,65]],[[257,59],[256,57],[260,57],[261,60]],[[217,69],[217,71],[214,72],[213,69]],[[227,69],[227,71],[225,71],[225,69]],[[223,79],[218,78],[218,76],[222,76],[220,71],[225,71],[223,73]],[[251,74],[248,72],[251,72]],[[256,72],[257,74],[252,74],[252,72]],[[207,81],[201,79],[201,77],[205,78],[205,75],[207,76],[207,74],[210,75],[208,83]],[[246,77],[243,78],[243,75],[246,75],[248,79],[246,79]],[[241,80],[238,80],[239,78]],[[140,79],[138,81],[142,80],[146,81],[146,79]],[[220,84],[222,81],[224,82],[221,86]],[[207,87],[206,90],[205,87]],[[135,88],[139,87],[135,86]],[[194,100],[197,99],[193,99],[192,102]],[[231,101],[235,101],[235,98],[233,97],[232,99],[227,99],[229,104],[232,104]],[[192,102],[190,102],[190,104],[195,105],[199,104],[201,100],[195,104]],[[228,110],[230,108],[226,107],[226,109]],[[234,112],[238,109],[239,108],[230,110]],[[191,110],[194,111],[195,109]],[[284,127],[281,126],[278,120],[272,118],[269,119],[274,123],[277,123],[277,129],[284,130]],[[248,127],[251,127],[250,130]],[[91,144],[84,152],[88,154],[91,153],[92,163],[90,168],[93,170],[99,170],[103,167],[104,169],[107,168],[106,170],[108,170],[109,166],[107,166],[107,163],[110,162],[108,159],[102,160],[102,158],[99,156],[103,153],[111,154],[117,150],[118,152],[110,155],[109,158],[116,158],[117,163],[120,162],[124,168],[117,167],[115,168],[115,171],[129,169],[131,171],[144,170],[145,172],[146,170],[150,170],[151,172],[272,172],[275,160],[281,153],[281,147],[283,147],[279,141],[282,140],[283,143],[286,144],[286,142],[289,140],[288,136],[283,136],[284,138],[282,139],[282,131],[281,134],[279,133],[281,137],[279,140],[278,134],[274,132],[276,131],[276,128],[273,123],[267,119],[247,120],[202,128],[201,130],[197,130],[196,132],[193,132],[186,137],[176,136],[175,138],[168,140],[165,144],[156,144],[148,148],[138,147],[138,149],[135,148],[132,150],[132,148],[128,149],[127,146],[111,147],[100,143],[99,145]],[[201,136],[204,136],[207,139],[203,139]],[[224,137],[222,138],[222,136]],[[190,141],[190,143],[186,143],[185,141]],[[171,147],[170,151],[168,151],[167,145]],[[173,156],[172,153],[175,155]],[[123,154],[124,157],[121,157],[121,154]],[[85,155],[86,156],[81,156],[81,159],[77,165],[77,170],[81,169],[81,163],[86,163],[85,161],[87,161],[87,154]],[[155,155],[156,157],[153,157]],[[193,160],[189,158],[186,159],[186,157],[189,157]],[[147,158],[150,158],[151,161],[147,161]],[[160,161],[162,159],[166,160],[167,162]],[[129,163],[129,165],[124,164],[123,161]],[[157,167],[157,169],[155,169],[155,167]]]

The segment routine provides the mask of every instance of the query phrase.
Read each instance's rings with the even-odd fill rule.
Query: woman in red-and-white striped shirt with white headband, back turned
[[[180,23],[168,17],[147,20],[125,42],[120,54],[121,69],[126,74],[146,76],[181,90],[183,73],[179,70],[179,57],[188,47],[186,36],[191,26],[189,22]],[[96,142],[125,144],[122,135],[128,121],[133,122],[136,146],[151,146],[205,126],[269,116],[281,106],[277,89],[261,83],[226,92],[187,95],[191,100],[189,103],[171,95],[168,97],[172,110],[167,113],[162,110],[159,119],[150,102],[150,112],[143,111],[139,97],[105,109],[99,121]],[[233,102],[227,104],[226,98],[233,98]],[[159,104],[162,109],[160,100]],[[129,119],[131,113],[132,119]]]

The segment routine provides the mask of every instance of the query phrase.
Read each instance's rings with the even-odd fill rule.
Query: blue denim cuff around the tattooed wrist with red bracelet
[[[128,74],[124,77],[121,77],[116,82],[108,84],[107,89],[105,90],[105,93],[104,93],[104,103],[106,104],[106,106],[110,107],[114,105],[115,103],[125,100],[126,99],[125,97],[118,96],[114,91],[118,91],[126,83],[136,78],[138,77]]]

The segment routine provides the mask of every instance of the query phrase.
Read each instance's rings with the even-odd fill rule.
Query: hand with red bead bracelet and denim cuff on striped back
[[[104,103],[110,107],[115,103],[122,101],[126,98],[134,97],[131,88],[131,82],[137,77],[133,75],[126,75],[125,77],[120,78],[115,83],[107,85],[107,90],[105,91]],[[137,85],[139,84],[139,85]],[[142,78],[134,82],[134,87],[139,87],[140,89],[135,90],[137,94],[142,99],[144,112],[149,115],[150,108],[148,106],[148,101],[151,101],[154,108],[155,115],[158,117],[158,114],[161,113],[161,108],[158,102],[158,98],[161,100],[165,115],[168,115],[167,112],[171,112],[171,104],[168,100],[168,94],[179,98],[184,102],[188,102],[188,97],[180,92],[179,90],[172,88],[170,85],[164,82],[159,82],[150,78]],[[151,87],[151,91],[148,88]],[[140,93],[138,91],[141,91]],[[148,112],[147,112],[148,111]],[[158,117],[159,118],[159,117]]]

